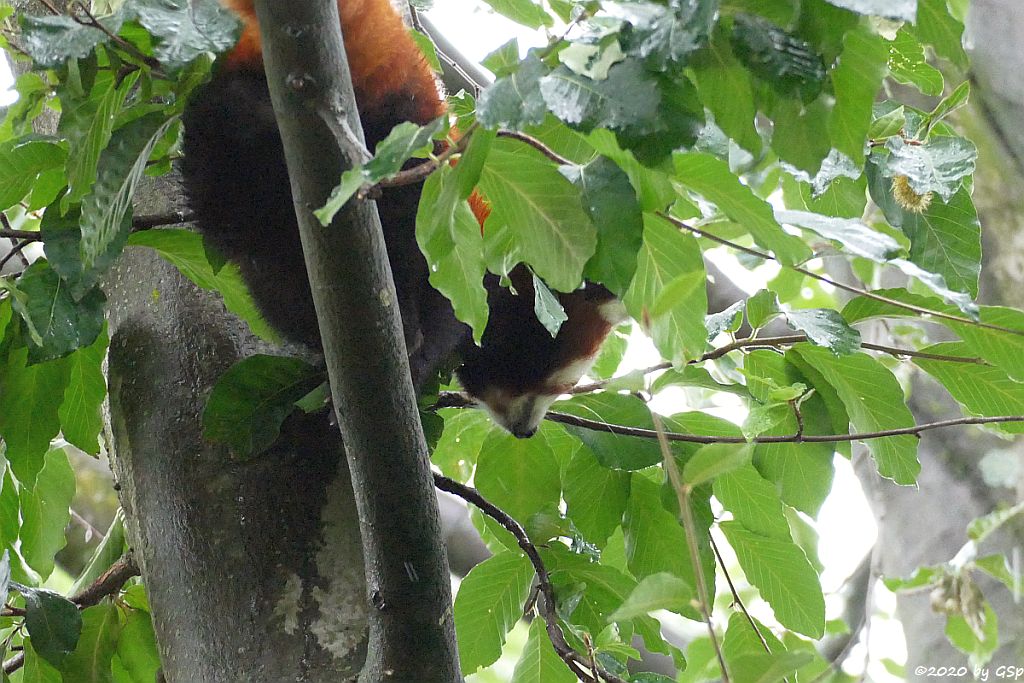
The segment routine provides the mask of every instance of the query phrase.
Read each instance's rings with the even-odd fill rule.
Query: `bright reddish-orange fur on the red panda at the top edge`
[[[244,24],[242,38],[227,56],[231,69],[262,69],[259,27],[252,0],[221,0]],[[418,123],[444,113],[434,75],[388,0],[338,0],[348,68],[356,99],[375,111],[390,94],[406,91],[418,103]]]

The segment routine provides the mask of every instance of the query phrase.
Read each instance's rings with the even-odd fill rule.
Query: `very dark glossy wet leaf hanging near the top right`
[[[752,73],[782,94],[799,94],[806,102],[821,91],[825,77],[821,56],[810,44],[767,19],[736,15],[732,48]]]

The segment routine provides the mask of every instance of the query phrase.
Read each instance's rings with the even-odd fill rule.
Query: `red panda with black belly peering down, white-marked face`
[[[288,171],[270,105],[251,0],[223,0],[243,22],[238,45],[183,118],[183,184],[205,238],[242,270],[267,322],[292,341],[318,346],[318,329],[291,200]],[[434,76],[388,0],[339,0],[341,28],[367,144],[373,148],[403,121],[425,124],[445,112]],[[567,319],[555,338],[534,313],[532,281],[512,272],[516,294],[488,275],[489,323],[481,345],[428,282],[416,243],[420,185],[388,188],[378,200],[398,294],[414,385],[453,353],[456,374],[495,420],[530,436],[548,407],[571,388],[622,306],[589,284],[559,295]],[[472,203],[484,223],[484,203]]]

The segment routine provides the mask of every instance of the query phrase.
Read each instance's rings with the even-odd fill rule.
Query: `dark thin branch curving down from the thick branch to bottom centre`
[[[604,679],[608,683],[626,683],[625,680],[618,678],[614,674],[611,674],[600,667],[595,667],[589,657],[577,652],[575,649],[573,649],[573,647],[565,640],[565,634],[562,633],[561,627],[558,626],[558,613],[556,612],[557,603],[555,602],[555,589],[551,585],[551,574],[548,573],[548,569],[544,565],[544,560],[541,559],[541,554],[538,552],[537,546],[535,546],[529,540],[529,537],[526,536],[525,529],[523,529],[519,522],[517,522],[497,505],[481,496],[480,493],[472,486],[467,486],[464,483],[460,483],[455,479],[450,479],[449,477],[437,474],[436,472],[434,473],[434,485],[443,492],[458,496],[467,503],[473,504],[480,510],[480,512],[497,521],[509,533],[515,537],[516,543],[519,544],[519,548],[522,549],[522,552],[526,554],[530,564],[534,565],[534,571],[537,573],[538,586],[540,587],[541,595],[544,598],[543,600],[538,601],[538,611],[544,620],[548,638],[551,640],[551,644],[554,646],[558,656],[562,658],[572,673],[587,682],[596,682],[600,678]],[[587,674],[585,671],[582,671],[580,667],[587,667],[591,669],[593,674]]]

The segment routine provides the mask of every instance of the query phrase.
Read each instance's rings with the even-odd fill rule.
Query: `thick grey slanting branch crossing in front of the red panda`
[[[323,206],[361,143],[334,0],[257,0],[338,425],[358,509],[371,609],[361,680],[459,681],[447,561],[376,207],[326,229]],[[347,155],[347,156],[346,156]]]

